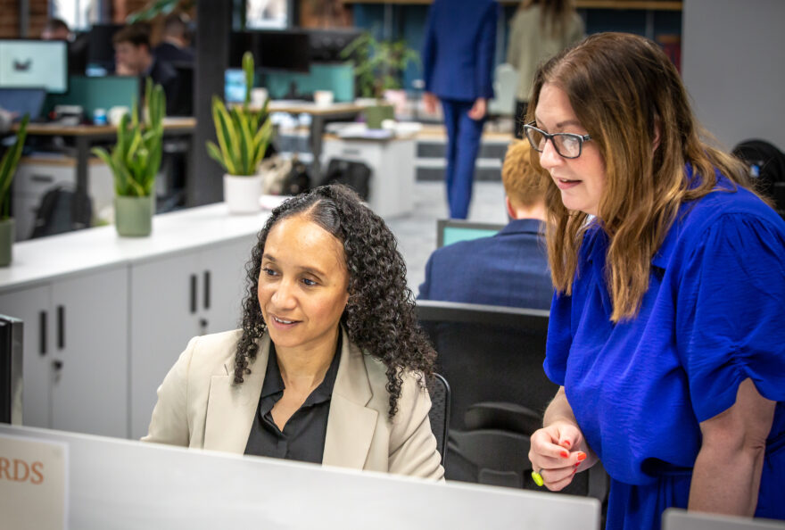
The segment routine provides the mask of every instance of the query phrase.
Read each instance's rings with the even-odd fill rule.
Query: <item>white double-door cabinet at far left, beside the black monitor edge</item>
[[[0,295],[24,320],[23,417],[29,426],[128,435],[128,269]]]

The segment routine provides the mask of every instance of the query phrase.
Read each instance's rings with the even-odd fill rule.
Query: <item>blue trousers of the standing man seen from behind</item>
[[[468,116],[473,101],[442,99],[444,125],[447,128],[447,203],[450,218],[466,219],[472,200],[475,161],[480,150],[485,119],[472,120]]]

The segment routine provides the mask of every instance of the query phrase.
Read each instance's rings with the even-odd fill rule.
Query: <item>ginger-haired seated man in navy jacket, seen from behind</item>
[[[509,145],[501,169],[512,220],[495,236],[437,249],[426,264],[420,299],[550,309],[542,234],[548,180],[530,165],[530,149],[525,141]]]

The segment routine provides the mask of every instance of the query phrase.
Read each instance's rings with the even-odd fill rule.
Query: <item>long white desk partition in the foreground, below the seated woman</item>
[[[70,529],[599,530],[599,501],[584,497],[5,425],[0,454],[9,436],[68,446]]]

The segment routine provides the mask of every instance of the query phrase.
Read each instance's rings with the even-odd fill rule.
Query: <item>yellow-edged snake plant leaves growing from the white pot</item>
[[[261,110],[249,107],[253,87],[253,55],[243,55],[245,72],[245,101],[230,106],[217,96],[212,96],[212,120],[218,145],[207,142],[207,153],[218,161],[229,175],[252,176],[259,168],[273,134],[272,121],[267,111],[269,100]]]

